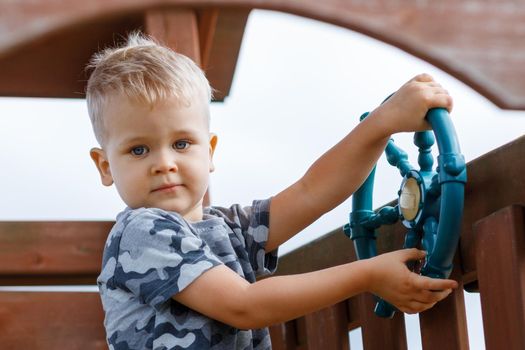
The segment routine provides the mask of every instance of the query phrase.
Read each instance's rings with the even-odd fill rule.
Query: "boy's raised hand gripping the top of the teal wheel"
[[[387,101],[374,110],[386,134],[422,131],[430,128],[425,120],[431,108],[452,110],[452,97],[428,74],[420,74],[405,83]]]

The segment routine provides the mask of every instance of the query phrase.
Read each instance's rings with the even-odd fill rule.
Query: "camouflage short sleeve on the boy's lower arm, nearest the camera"
[[[176,215],[139,209],[128,220],[113,282],[143,303],[159,308],[204,272],[221,264]]]

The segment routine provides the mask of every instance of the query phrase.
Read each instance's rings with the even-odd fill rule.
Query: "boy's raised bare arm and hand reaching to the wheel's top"
[[[266,251],[277,248],[346,200],[366,179],[390,135],[428,129],[424,116],[435,107],[450,110],[452,99],[432,77],[422,74],[370,113],[299,181],[272,198]]]

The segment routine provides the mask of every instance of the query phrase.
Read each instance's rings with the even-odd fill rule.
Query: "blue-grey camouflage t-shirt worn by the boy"
[[[196,223],[155,208],[120,213],[97,280],[109,348],[270,349],[267,328],[236,329],[172,299],[219,264],[250,283],[274,272],[277,251],[264,251],[268,226],[269,200],[206,208]]]

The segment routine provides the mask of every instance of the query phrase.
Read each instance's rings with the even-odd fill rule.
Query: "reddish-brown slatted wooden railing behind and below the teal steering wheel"
[[[423,349],[468,349],[463,289],[479,292],[487,349],[525,349],[525,137],[467,165],[462,237],[452,278],[460,288],[419,315]],[[379,230],[379,252],[399,249],[406,229]],[[355,261],[342,229],[285,255],[278,274],[309,272]],[[404,317],[376,317],[371,295],[271,327],[275,349],[349,349],[361,327],[363,347],[407,349]],[[477,349],[476,349],[477,350]]]

